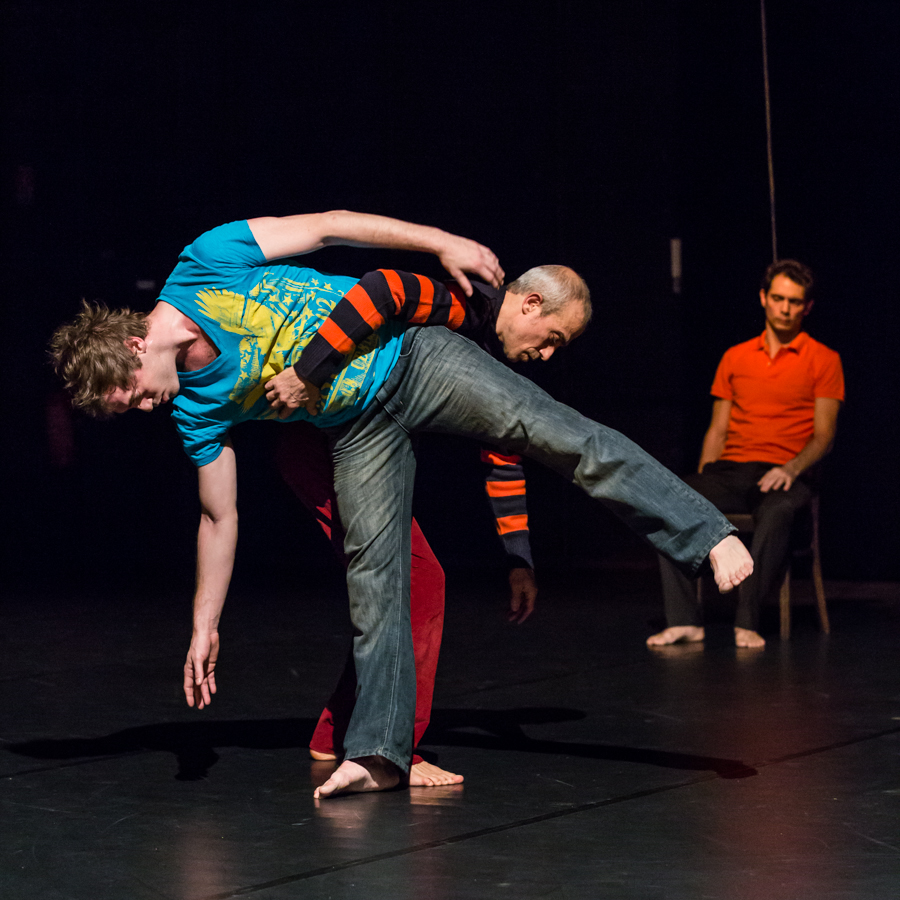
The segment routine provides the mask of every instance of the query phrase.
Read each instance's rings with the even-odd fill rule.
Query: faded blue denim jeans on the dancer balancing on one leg
[[[334,486],[349,558],[359,678],[348,758],[408,768],[415,719],[409,625],[412,437],[472,437],[558,472],[694,574],[734,529],[637,444],[557,403],[466,338],[412,328],[376,401],[334,442]]]

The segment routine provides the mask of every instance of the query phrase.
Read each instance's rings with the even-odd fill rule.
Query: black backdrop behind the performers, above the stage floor
[[[778,249],[813,267],[809,331],[847,378],[823,488],[826,576],[900,578],[896,209],[900,4],[770,2]],[[162,414],[66,412],[46,341],[80,297],[149,309],[180,249],[233,219],[347,208],[488,244],[509,277],[566,263],[588,333],[536,379],[680,473],[709,385],[759,333],[771,259],[755,2],[10,2],[4,5],[3,566],[73,587],[184,584],[193,468]],[[672,292],[669,241],[684,245]],[[360,275],[436,260],[334,249]],[[333,566],[237,429],[238,579]],[[474,445],[427,439],[417,513],[440,558],[500,553]],[[529,469],[539,568],[652,564]]]

